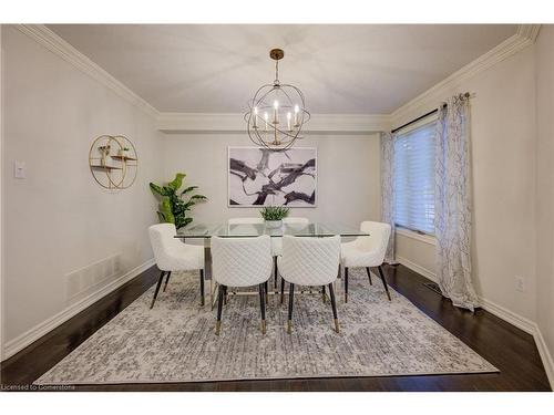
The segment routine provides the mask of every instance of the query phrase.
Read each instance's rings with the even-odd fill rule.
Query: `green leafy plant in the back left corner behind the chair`
[[[160,198],[160,210],[157,211],[160,221],[174,224],[177,229],[193,221],[193,218],[187,216],[187,211],[194,205],[207,200],[204,195],[192,195],[185,199],[186,195],[196,190],[198,186],[189,186],[178,193],[185,176],[184,173],[177,173],[175,178],[165,186],[150,184],[152,193]]]

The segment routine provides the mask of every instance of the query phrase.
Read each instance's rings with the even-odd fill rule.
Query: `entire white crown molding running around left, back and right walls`
[[[136,107],[145,111],[157,120],[160,131],[171,133],[233,133],[244,132],[243,114],[199,114],[199,113],[162,113],[148,104],[132,90],[110,75],[92,60],[79,52],[43,24],[16,25],[21,32],[45,46],[76,69],[86,73],[102,85],[115,92]],[[390,131],[393,124],[400,124],[407,117],[423,108],[437,106],[449,91],[459,86],[463,81],[488,70],[494,64],[517,53],[536,41],[540,24],[520,24],[517,32],[504,42],[470,62],[452,75],[439,82],[419,96],[410,100],[391,114],[312,114],[305,131],[310,133],[345,133],[363,134],[380,131]]]

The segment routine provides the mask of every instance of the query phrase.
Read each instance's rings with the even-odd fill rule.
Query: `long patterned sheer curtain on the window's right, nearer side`
[[[437,277],[455,307],[474,310],[471,280],[469,100],[456,95],[439,108],[437,122],[434,228]]]

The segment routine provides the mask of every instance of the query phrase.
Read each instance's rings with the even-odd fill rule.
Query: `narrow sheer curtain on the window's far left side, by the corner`
[[[389,245],[384,255],[384,262],[396,263],[394,260],[394,136],[391,133],[381,133],[381,221],[391,226]]]

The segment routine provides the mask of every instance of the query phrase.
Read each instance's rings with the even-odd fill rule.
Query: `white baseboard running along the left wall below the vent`
[[[88,307],[92,305],[103,297],[107,295],[110,292],[114,291],[119,287],[123,286],[125,282],[132,280],[140,273],[146,271],[148,268],[151,268],[153,264],[155,264],[154,259],[150,259],[143,264],[132,269],[131,271],[124,273],[116,280],[113,280],[109,284],[102,287],[100,290],[91,293],[90,295],[85,297],[84,299],[75,302],[74,304],[71,304],[60,311],[59,313],[52,315],[51,318],[44,320],[43,322],[37,324],[32,329],[25,331],[24,333],[20,334],[16,339],[9,341],[6,343],[3,347],[3,360],[7,360],[18,353],[19,351],[23,350],[31,343],[35,342],[40,338],[42,338],[44,334],[49,333],[50,331],[54,330],[57,326],[60,324],[64,323],[69,319],[71,319],[73,315],[80,313]]]

